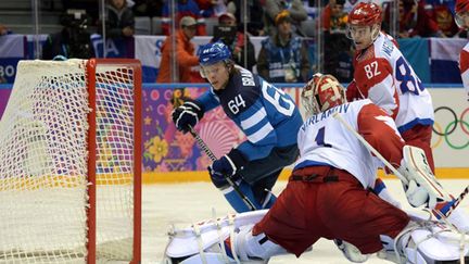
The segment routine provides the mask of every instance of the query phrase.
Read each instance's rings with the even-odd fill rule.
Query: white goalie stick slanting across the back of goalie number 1
[[[365,148],[367,148],[369,151],[371,151],[371,153],[373,153],[381,162],[384,163],[384,165],[391,169],[391,172],[394,173],[394,175],[400,178],[404,184],[408,184],[408,180],[406,177],[404,177],[391,163],[389,163],[382,155],[380,152],[378,152],[378,150],[376,150],[370,143],[368,143],[364,137],[362,137],[362,135],[359,135],[355,129],[353,129],[340,115],[338,112],[335,112],[334,114],[332,114],[332,116],[338,120],[340,123],[342,123],[342,125],[350,131],[352,133],[352,135],[354,135],[364,146]],[[435,206],[435,209],[432,210],[433,214],[439,217],[439,216],[444,216],[444,217],[448,217],[453,211],[457,208],[457,205],[459,205],[459,203],[462,201],[462,199],[466,197],[466,194],[469,192],[469,186],[466,187],[466,189],[464,189],[464,191],[456,198],[453,199],[452,202],[446,201],[447,204],[449,205],[449,209],[447,209],[446,212],[441,211],[442,209],[445,208],[445,205],[442,206]],[[438,204],[438,203],[436,203]]]

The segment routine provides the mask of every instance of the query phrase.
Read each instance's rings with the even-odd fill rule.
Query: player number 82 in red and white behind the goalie
[[[391,115],[407,144],[431,151],[433,105],[414,68],[392,37],[381,32],[382,11],[376,3],[358,3],[348,14],[347,35],[354,41],[354,80],[347,100],[369,98]]]

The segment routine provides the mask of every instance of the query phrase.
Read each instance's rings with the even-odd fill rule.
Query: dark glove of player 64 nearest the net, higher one
[[[203,108],[198,101],[188,100],[173,111],[173,122],[179,131],[186,134],[189,131],[189,126],[195,126],[203,114]]]

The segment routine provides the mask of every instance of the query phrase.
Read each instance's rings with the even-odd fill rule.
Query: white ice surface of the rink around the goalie
[[[391,193],[401,201],[403,208],[407,204],[401,184],[396,179],[384,180]],[[441,180],[446,190],[459,196],[469,185],[469,179]],[[277,183],[274,192],[280,193],[287,181]],[[221,193],[208,183],[190,183],[173,185],[143,186],[142,204],[142,263],[160,263],[164,248],[168,241],[166,232],[170,224],[183,227],[193,222],[212,217],[212,208],[218,216],[232,212]],[[460,204],[469,213],[469,198]],[[314,223],[312,223],[313,225]],[[317,263],[342,264],[348,263],[332,241],[321,239],[313,251],[303,254],[300,259],[294,255],[274,257],[269,263]],[[390,263],[371,256],[366,263]]]

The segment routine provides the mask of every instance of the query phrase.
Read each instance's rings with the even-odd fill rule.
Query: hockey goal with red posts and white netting
[[[140,262],[140,71],[18,63],[0,121],[0,263]]]

